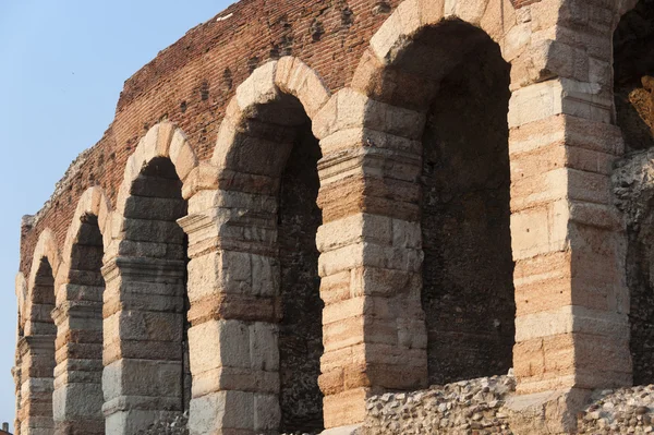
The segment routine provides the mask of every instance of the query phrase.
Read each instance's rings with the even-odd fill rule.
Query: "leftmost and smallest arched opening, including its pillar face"
[[[27,358],[24,366],[22,397],[22,433],[53,431],[52,391],[55,377],[55,277],[47,257],[40,258],[35,274],[29,318],[25,330]]]

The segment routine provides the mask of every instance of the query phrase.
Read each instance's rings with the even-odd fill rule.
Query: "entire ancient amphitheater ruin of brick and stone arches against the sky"
[[[16,433],[653,432],[649,75],[653,0],[242,0],[24,218]]]

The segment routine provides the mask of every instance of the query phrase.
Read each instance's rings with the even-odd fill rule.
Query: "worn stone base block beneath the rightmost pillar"
[[[505,410],[513,434],[570,434],[592,391],[581,388],[512,396]]]

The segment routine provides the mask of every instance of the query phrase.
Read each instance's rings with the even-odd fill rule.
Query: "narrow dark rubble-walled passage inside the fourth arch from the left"
[[[322,157],[304,117],[281,174],[279,263],[282,319],[279,334],[282,432],[320,432],[323,394],[318,387],[323,355],[323,301],[316,232],[323,215],[316,205]]]

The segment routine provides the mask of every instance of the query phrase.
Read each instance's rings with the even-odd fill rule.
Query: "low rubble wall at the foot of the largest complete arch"
[[[416,392],[387,392],[367,401],[365,435],[511,434],[502,410],[516,391],[512,375],[482,377]]]

